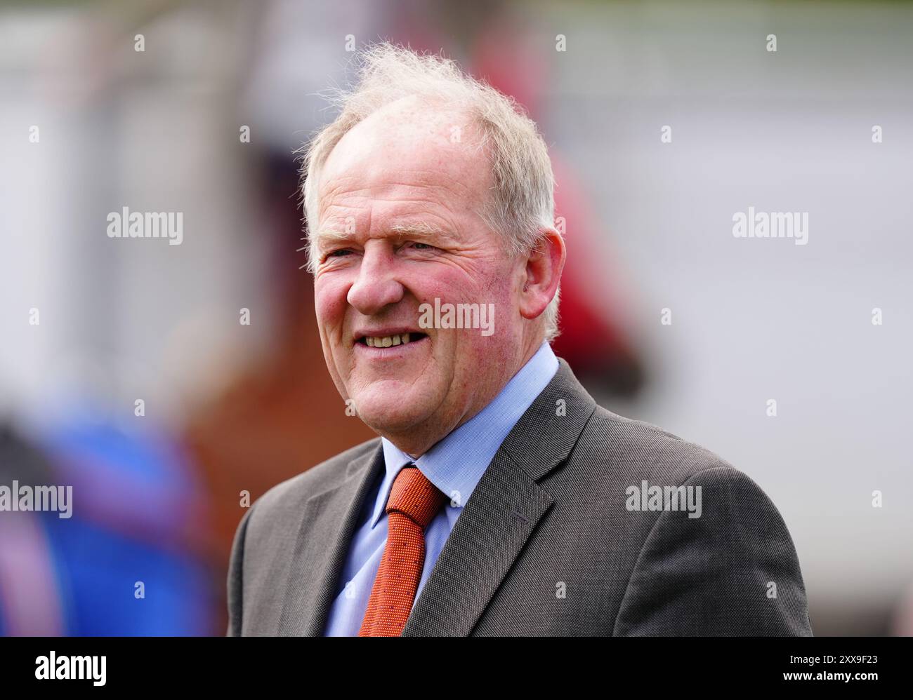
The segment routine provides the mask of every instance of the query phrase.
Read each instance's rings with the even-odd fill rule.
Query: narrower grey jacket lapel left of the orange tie
[[[305,501],[279,617],[280,636],[320,636],[364,500],[383,472],[383,448],[353,459],[345,479]]]

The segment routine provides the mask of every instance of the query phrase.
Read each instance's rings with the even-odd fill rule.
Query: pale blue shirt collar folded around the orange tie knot
[[[381,438],[386,474],[374,505],[371,527],[383,516],[394,479],[408,464],[414,463],[437,489],[446,494],[451,508],[462,508],[504,438],[508,437],[519,418],[557,371],[558,358],[548,343],[542,343],[487,407],[417,459],[411,458],[387,438]]]

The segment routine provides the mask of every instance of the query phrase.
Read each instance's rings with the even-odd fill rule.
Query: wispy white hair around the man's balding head
[[[488,149],[494,182],[479,215],[498,233],[509,255],[527,254],[540,244],[542,229],[554,228],[554,175],[535,122],[512,98],[468,76],[455,61],[385,42],[363,49],[357,67],[358,80],[352,89],[335,89],[326,95],[340,108],[339,116],[299,150],[304,156],[302,192],[310,229],[311,272],[317,264],[312,238],[319,214],[318,181],[331,150],[359,122],[409,97],[467,114],[477,127],[479,146]],[[542,314],[545,340],[550,342],[558,335],[560,292],[559,286]]]

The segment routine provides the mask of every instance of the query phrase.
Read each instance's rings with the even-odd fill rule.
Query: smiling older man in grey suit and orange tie
[[[379,438],[247,511],[228,633],[811,634],[761,489],[552,354],[565,247],[530,119],[387,44],[340,102],[307,151],[310,267],[327,410]]]

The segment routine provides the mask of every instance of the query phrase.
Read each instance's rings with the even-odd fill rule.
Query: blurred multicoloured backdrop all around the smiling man
[[[0,484],[78,503],[0,513],[0,634],[225,633],[245,493],[373,437],[323,362],[294,150],[379,39],[540,124],[554,347],[600,403],[761,485],[814,633],[913,634],[913,4],[595,0],[0,7]],[[733,237],[750,206],[808,244]],[[123,207],[182,244],[110,238]]]

